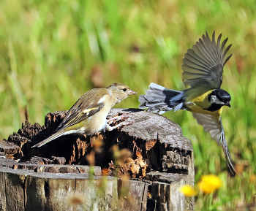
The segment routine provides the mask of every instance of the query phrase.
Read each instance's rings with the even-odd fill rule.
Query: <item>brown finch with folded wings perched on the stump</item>
[[[108,121],[111,122],[115,118],[110,120],[106,120],[106,118],[115,104],[134,94],[137,93],[121,83],[113,83],[107,88],[94,88],[84,93],[67,112],[55,133],[33,147],[41,147],[53,139],[67,134],[91,135],[97,134],[104,128],[111,131],[113,128],[130,124],[122,122],[111,127],[108,125]],[[119,119],[122,118],[120,117]]]

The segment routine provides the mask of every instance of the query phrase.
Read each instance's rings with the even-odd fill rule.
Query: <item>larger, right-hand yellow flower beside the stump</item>
[[[202,176],[197,186],[203,193],[211,193],[222,187],[222,180],[214,174],[208,174]]]

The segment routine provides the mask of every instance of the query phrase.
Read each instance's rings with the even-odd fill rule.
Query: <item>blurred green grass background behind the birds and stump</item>
[[[222,120],[231,156],[244,177],[227,174],[222,147],[189,112],[165,115],[178,123],[195,151],[195,180],[217,174],[223,187],[195,197],[195,210],[238,210],[254,203],[256,171],[256,3],[246,1],[0,1],[0,139],[25,120],[44,123],[48,112],[69,110],[86,91],[111,83],[138,95],[149,83],[184,89],[187,48],[215,30],[233,43],[222,88],[232,109]],[[117,107],[138,107],[130,96]],[[240,207],[240,208],[238,208]]]

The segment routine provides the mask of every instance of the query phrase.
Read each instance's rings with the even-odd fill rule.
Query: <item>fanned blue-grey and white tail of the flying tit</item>
[[[148,112],[158,112],[162,114],[169,110],[180,110],[183,106],[182,91],[175,91],[161,85],[151,83],[146,95],[140,95],[140,109],[148,109]]]

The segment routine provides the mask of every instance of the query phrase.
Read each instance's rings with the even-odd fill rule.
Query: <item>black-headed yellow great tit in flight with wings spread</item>
[[[181,66],[184,85],[190,88],[175,91],[155,83],[149,85],[146,95],[139,97],[140,108],[147,108],[148,112],[162,114],[170,110],[188,110],[193,113],[197,123],[203,125],[205,131],[211,134],[225,153],[227,166],[235,174],[236,169],[227,147],[227,141],[222,126],[222,107],[230,106],[231,96],[220,88],[222,85],[223,67],[231,55],[225,58],[231,45],[224,50],[227,39],[220,45],[222,34],[215,41],[215,31],[212,40],[203,34],[191,49],[184,55]]]

